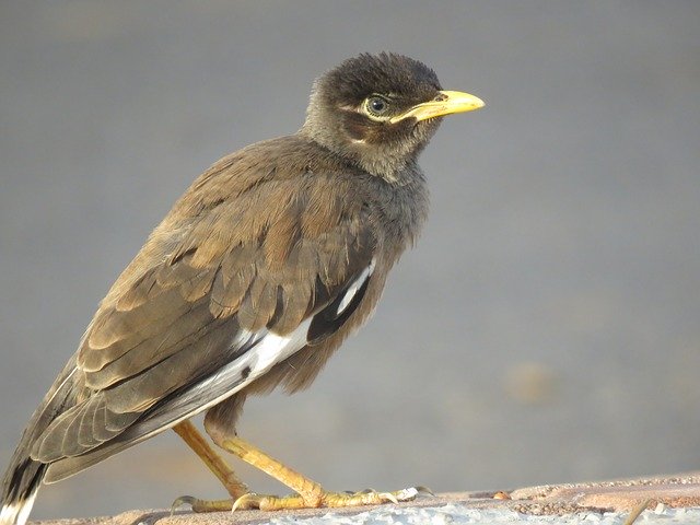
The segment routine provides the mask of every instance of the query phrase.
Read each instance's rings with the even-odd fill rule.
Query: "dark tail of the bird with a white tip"
[[[2,479],[0,525],[24,525],[30,517],[34,499],[48,469],[47,464],[32,459],[32,447],[56,416],[70,406],[74,392],[71,382],[74,370],[74,362],[71,360],[22,434]]]

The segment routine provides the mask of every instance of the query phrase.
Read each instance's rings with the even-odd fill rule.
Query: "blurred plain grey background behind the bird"
[[[2,1],[2,464],[189,183],[388,49],[487,107],[423,154],[430,222],[374,319],[311,390],[248,402],[242,435],[343,490],[699,469],[698,27],[697,1]],[[167,433],[33,516],[183,493],[224,495]]]

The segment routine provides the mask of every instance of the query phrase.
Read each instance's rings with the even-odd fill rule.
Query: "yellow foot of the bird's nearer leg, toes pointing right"
[[[409,487],[408,489],[394,492],[377,492],[368,489],[361,492],[328,492],[322,490],[314,494],[313,499],[304,498],[300,494],[287,497],[256,494],[250,492],[238,498],[232,506],[232,511],[245,509],[259,509],[261,511],[279,511],[283,509],[315,509],[378,505],[382,503],[398,503],[400,501],[411,501],[421,493],[431,493],[424,487]]]

